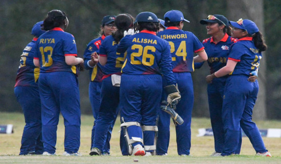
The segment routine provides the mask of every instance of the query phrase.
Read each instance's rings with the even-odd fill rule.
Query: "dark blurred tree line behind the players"
[[[266,38],[268,50],[266,51],[266,63],[261,65],[263,71],[259,72],[258,78],[259,81],[265,81],[264,91],[259,95],[262,96],[262,99],[257,99],[257,101],[265,102],[264,106],[260,106],[262,107],[261,113],[264,113],[264,116],[260,118],[281,119],[281,112],[279,112],[281,106],[278,104],[281,102],[281,74],[279,73],[280,67],[278,67],[281,59],[277,57],[281,50],[281,42],[278,40],[280,38],[279,27],[281,27],[281,1],[279,0],[1,0],[0,5],[0,40],[2,43],[0,45],[0,65],[2,67],[0,70],[2,77],[0,79],[0,111],[21,111],[13,93],[20,55],[32,40],[33,36],[30,34],[32,26],[43,20],[48,11],[53,9],[65,11],[69,19],[69,26],[65,31],[75,36],[78,56],[83,57],[86,45],[98,36],[103,16],[120,13],[136,16],[139,12],[151,11],[159,18],[163,18],[167,11],[176,9],[182,11],[184,18],[191,22],[185,23],[183,30],[193,32],[200,40],[209,37],[206,34],[205,26],[199,24],[199,20],[205,19],[209,14],[222,14],[233,21],[242,17],[261,22],[257,26]],[[256,8],[259,5],[262,11]],[[195,91],[193,116],[196,117],[209,116],[205,82],[205,76],[208,74],[209,68],[206,63],[203,68],[193,73]],[[79,76],[79,87],[83,114],[91,114],[88,84],[88,73],[82,72]],[[258,111],[260,112],[260,110]]]

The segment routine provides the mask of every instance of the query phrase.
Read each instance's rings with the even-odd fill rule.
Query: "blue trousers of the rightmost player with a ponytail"
[[[235,153],[239,146],[240,127],[256,152],[267,152],[259,129],[252,121],[252,112],[259,92],[259,83],[246,75],[231,75],[226,80],[222,119],[225,131],[223,156]]]

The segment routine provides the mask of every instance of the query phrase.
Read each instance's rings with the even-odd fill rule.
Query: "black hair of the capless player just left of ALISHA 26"
[[[112,34],[116,43],[124,37],[124,31],[133,27],[133,18],[129,14],[119,14],[114,20],[117,30]]]

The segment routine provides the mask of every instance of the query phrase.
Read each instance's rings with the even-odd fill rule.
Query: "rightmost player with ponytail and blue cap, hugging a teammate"
[[[269,156],[259,129],[252,121],[252,112],[259,91],[259,82],[248,81],[250,73],[260,66],[262,51],[267,49],[262,33],[251,20],[242,18],[237,22],[229,22],[234,28],[231,36],[238,38],[230,47],[226,66],[208,75],[206,80],[231,74],[224,90],[222,120],[225,131],[224,149],[221,156],[235,154],[239,146],[240,127],[249,137],[256,155]]]

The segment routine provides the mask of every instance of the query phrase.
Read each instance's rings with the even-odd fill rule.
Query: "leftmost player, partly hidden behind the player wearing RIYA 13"
[[[39,68],[33,64],[33,57],[36,53],[36,42],[38,37],[46,32],[41,30],[43,21],[36,23],[31,34],[33,40],[26,46],[21,54],[20,65],[17,70],[14,93],[17,101],[24,111],[26,126],[21,137],[19,155],[42,154],[42,122],[41,102],[38,89]]]

